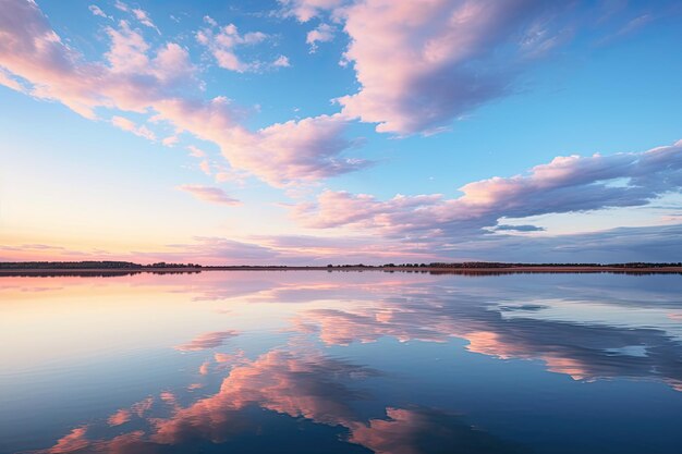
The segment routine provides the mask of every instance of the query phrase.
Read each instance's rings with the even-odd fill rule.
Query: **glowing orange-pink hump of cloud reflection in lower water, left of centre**
[[[236,412],[248,405],[321,424],[348,425],[354,418],[348,402],[360,395],[342,382],[370,373],[319,355],[297,357],[272,351],[234,367],[217,394],[178,409],[169,419],[155,419],[151,440],[178,443],[200,434],[214,442],[224,441],[223,431],[236,424]]]

